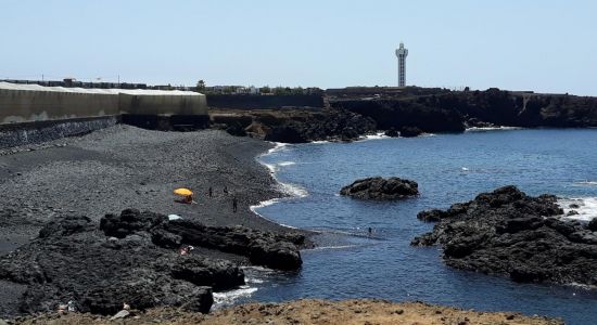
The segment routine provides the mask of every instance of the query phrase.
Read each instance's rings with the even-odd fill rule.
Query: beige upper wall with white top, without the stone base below
[[[0,125],[103,116],[207,116],[205,95],[190,91],[82,89],[0,82]]]

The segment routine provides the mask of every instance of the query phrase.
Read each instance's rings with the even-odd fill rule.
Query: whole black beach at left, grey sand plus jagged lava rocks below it
[[[115,303],[122,306],[122,298],[126,297],[118,295],[126,292],[142,292],[140,299],[162,297],[156,306],[192,301],[195,310],[208,310],[207,300],[202,297],[211,289],[203,286],[223,288],[240,281],[234,282],[232,276],[225,282],[192,284],[177,276],[189,270],[202,276],[204,272],[213,276],[221,272],[238,275],[234,268],[254,263],[296,268],[300,265],[296,248],[287,262],[279,259],[282,264],[268,260],[280,251],[289,251],[295,243],[305,247],[308,242],[304,242],[301,234],[291,242],[282,240],[288,227],[250,210],[251,205],[284,195],[267,169],[255,160],[255,156],[270,147],[267,142],[234,138],[223,131],[160,132],[118,125],[80,138],[12,148],[0,156],[1,317],[55,311],[53,304],[59,300],[66,303],[63,301],[68,296],[66,292],[75,291],[80,296],[73,300],[89,301],[84,309],[97,312],[112,312]],[[212,197],[207,195],[209,186]],[[193,190],[196,204],[175,202],[173,190],[177,187]],[[232,210],[234,196],[237,212]],[[122,227],[126,222],[118,223],[123,221],[122,214],[105,217],[128,208],[149,210],[155,216],[177,214],[182,219],[152,230],[142,227],[145,221],[134,222],[136,225],[130,225],[134,230],[130,231]],[[126,218],[135,214],[128,213]],[[69,221],[56,223],[55,220]],[[118,226],[110,230],[110,224]],[[122,230],[127,233],[124,237]],[[204,237],[199,236],[200,233],[208,233],[211,239],[198,240]],[[236,248],[232,239],[240,240]],[[162,276],[162,266],[176,264],[175,247],[179,244],[196,247],[190,257],[192,261],[179,265],[179,275]],[[7,255],[10,251],[14,252]],[[292,262],[292,266],[284,266]],[[115,263],[122,268],[110,269]],[[73,265],[74,271],[68,271]],[[110,276],[97,281],[100,272]],[[82,290],[80,286],[90,283],[96,285]],[[141,285],[142,290],[129,288],[130,284]],[[114,299],[105,298],[106,301],[94,296],[111,286],[111,292],[123,294],[115,294]],[[92,297],[101,301],[92,302]],[[143,299],[140,306],[149,303]]]

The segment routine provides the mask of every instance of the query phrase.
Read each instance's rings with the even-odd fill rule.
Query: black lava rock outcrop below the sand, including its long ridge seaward
[[[169,221],[153,212],[106,214],[100,227],[84,216],[52,220],[31,243],[0,257],[0,280],[27,286],[21,313],[49,312],[73,301],[78,311],[118,312],[172,306],[208,312],[212,290],[244,284],[236,263],[179,248],[205,247],[245,256],[255,264],[282,270],[301,266],[302,235],[278,235],[245,227],[209,227]]]

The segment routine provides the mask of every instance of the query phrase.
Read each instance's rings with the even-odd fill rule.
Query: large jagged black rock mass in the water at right
[[[515,186],[482,193],[445,211],[412,245],[442,245],[446,264],[518,282],[597,285],[597,233],[561,218],[552,195],[528,196]]]

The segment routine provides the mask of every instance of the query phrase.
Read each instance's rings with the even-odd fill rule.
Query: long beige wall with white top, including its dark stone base
[[[88,133],[119,121],[192,130],[208,123],[190,91],[82,89],[0,82],[0,148]]]

